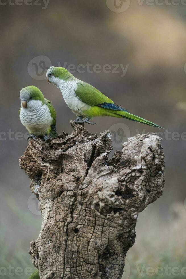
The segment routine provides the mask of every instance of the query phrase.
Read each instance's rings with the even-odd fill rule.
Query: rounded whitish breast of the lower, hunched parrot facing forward
[[[47,105],[37,100],[35,106],[21,108],[20,120],[30,134],[45,136],[53,119]]]

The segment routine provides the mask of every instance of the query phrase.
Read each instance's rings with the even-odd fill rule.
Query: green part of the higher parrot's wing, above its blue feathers
[[[98,104],[103,104],[105,102],[111,104],[114,103],[98,89],[83,81],[77,82],[77,90],[75,93],[81,101],[90,106],[97,106]]]

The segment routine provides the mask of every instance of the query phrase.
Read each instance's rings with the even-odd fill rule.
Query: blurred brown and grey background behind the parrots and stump
[[[90,132],[98,134],[111,130],[113,152],[137,133],[163,132],[164,195],[139,215],[136,243],[127,253],[124,278],[147,278],[146,271],[139,275],[135,264],[159,266],[160,255],[164,265],[184,267],[186,6],[173,0],[50,0],[48,5],[43,0],[37,5],[36,0],[29,2],[31,5],[25,1],[0,3],[0,267],[6,269],[0,272],[0,278],[12,278],[7,269],[10,264],[14,267],[12,272],[16,267],[33,268],[29,243],[38,237],[42,221],[38,204],[31,196],[30,181],[18,163],[27,146],[27,141],[16,134],[26,133],[18,116],[20,89],[35,85],[52,101],[58,133],[71,133],[69,121],[75,119],[59,89],[46,82],[46,68],[51,65],[74,65],[71,67],[77,78],[94,85],[131,113],[167,129],[160,131],[115,118],[94,118],[96,125],[86,124]],[[127,6],[123,5],[128,4],[125,10]],[[119,11],[123,7],[124,11]],[[94,68],[87,69],[87,63]],[[80,64],[84,68],[79,70]],[[113,71],[114,64],[119,65],[117,73]],[[28,277],[25,271],[23,275],[16,273],[13,278]],[[171,276],[183,278],[183,274]],[[164,273],[157,278],[167,277]]]

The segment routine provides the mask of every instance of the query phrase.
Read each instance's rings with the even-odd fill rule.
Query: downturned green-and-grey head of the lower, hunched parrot
[[[33,109],[36,106],[42,105],[45,98],[38,87],[27,86],[21,89],[20,100],[22,108]]]

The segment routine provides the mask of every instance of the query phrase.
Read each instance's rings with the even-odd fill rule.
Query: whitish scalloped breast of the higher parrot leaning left
[[[77,115],[85,117],[84,111],[91,108],[88,104],[82,102],[76,95],[77,81],[64,81],[62,79],[55,78],[54,83],[61,90],[63,98],[67,106]]]

